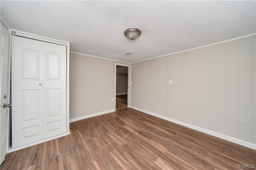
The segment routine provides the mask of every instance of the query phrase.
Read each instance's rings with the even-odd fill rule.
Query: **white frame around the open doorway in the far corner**
[[[126,66],[128,67],[128,76],[127,76],[127,85],[128,85],[128,90],[127,90],[127,107],[130,107],[130,94],[131,94],[131,66],[130,65],[126,65],[126,64],[119,64],[116,63],[115,64],[115,89],[114,89],[114,109],[116,111],[116,66]]]

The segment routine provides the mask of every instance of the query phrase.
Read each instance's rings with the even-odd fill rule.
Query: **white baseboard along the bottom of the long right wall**
[[[215,137],[218,137],[220,139],[224,139],[226,141],[230,141],[230,142],[233,142],[233,143],[236,143],[238,145],[242,145],[244,147],[248,147],[248,148],[251,148],[251,149],[254,149],[256,150],[256,145],[253,144],[253,143],[249,143],[249,142],[246,142],[246,141],[242,141],[240,139],[236,139],[234,137],[229,137],[227,135],[223,135],[221,133],[217,133],[217,132],[214,132],[214,131],[210,131],[210,130],[207,130],[207,129],[204,129],[202,127],[197,127],[195,125],[190,125],[188,123],[184,123],[182,121],[178,121],[178,120],[175,120],[175,119],[171,119],[169,117],[166,117],[166,116],[163,116],[163,115],[159,115],[159,114],[156,114],[156,113],[152,113],[150,111],[146,111],[146,110],[143,110],[143,109],[140,109],[140,108],[137,108],[137,107],[133,107],[131,106],[132,109],[136,109],[138,111],[142,111],[144,113],[148,113],[149,115],[153,115],[153,116],[156,116],[156,117],[159,117],[161,119],[165,119],[167,121],[171,121],[173,123],[177,123],[179,125],[182,125],[182,126],[185,126],[185,127],[189,127],[191,129],[194,129],[194,130],[197,130],[197,131],[200,131],[200,132],[203,132],[203,133],[206,133],[208,135],[212,135],[212,136],[215,136]]]

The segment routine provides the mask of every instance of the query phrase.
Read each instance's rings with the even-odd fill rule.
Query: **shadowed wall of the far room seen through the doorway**
[[[127,79],[128,75],[127,74],[116,74],[116,94],[127,94]]]

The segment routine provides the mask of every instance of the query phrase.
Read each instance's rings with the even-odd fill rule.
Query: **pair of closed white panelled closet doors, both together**
[[[12,148],[66,133],[66,53],[12,35]]]

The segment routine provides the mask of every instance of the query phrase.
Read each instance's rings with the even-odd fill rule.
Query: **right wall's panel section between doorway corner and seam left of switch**
[[[166,116],[167,57],[131,67],[131,106]]]

